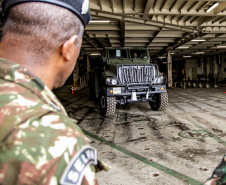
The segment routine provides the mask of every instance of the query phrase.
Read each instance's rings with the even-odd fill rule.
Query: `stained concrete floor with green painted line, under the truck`
[[[226,153],[226,88],[168,89],[169,105],[148,103],[117,107],[114,117],[100,115],[88,89],[55,91],[69,116],[78,120],[111,166],[99,172],[100,185],[186,185],[209,178]]]

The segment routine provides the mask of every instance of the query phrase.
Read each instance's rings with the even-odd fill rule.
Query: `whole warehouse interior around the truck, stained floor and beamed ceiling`
[[[90,0],[90,9],[74,73],[55,93],[110,168],[99,183],[205,182],[226,151],[226,0]],[[134,103],[103,117],[87,86],[104,48],[148,49],[172,78],[168,107]]]

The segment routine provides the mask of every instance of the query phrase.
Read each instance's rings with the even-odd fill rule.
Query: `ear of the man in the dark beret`
[[[76,39],[78,39],[78,35],[73,35],[63,43],[61,53],[66,61],[70,61],[70,59],[73,55],[73,50],[75,49]]]

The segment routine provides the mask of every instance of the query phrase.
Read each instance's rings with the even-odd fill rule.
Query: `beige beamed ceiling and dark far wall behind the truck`
[[[165,74],[171,55],[170,86],[225,83],[226,1],[90,0],[90,10],[81,55],[92,58],[106,47],[147,48]]]

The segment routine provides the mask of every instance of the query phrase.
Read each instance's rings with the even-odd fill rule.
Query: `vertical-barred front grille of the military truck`
[[[117,66],[117,77],[120,84],[152,84],[158,76],[158,66],[155,64]]]

